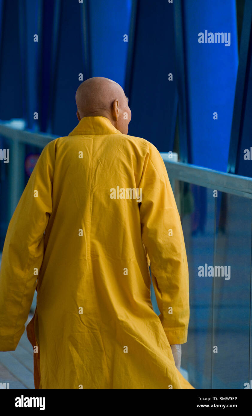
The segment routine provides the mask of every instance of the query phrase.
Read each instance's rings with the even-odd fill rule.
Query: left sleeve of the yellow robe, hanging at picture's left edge
[[[42,150],[7,229],[0,268],[0,351],[14,351],[25,331],[52,213],[54,162],[51,142]]]

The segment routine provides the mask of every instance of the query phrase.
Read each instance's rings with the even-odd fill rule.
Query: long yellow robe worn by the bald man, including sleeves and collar
[[[2,253],[1,351],[17,347],[36,287],[35,388],[193,388],[170,348],[187,341],[189,294],[166,167],[105,117],[47,144],[22,193]]]

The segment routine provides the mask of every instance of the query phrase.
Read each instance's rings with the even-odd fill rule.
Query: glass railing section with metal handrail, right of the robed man
[[[164,160],[189,268],[182,367],[196,389],[244,389],[251,374],[252,179]]]

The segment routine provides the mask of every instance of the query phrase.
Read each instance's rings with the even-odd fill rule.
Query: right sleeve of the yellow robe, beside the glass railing
[[[189,282],[183,231],[166,166],[156,147],[148,145],[139,184],[142,240],[151,262],[159,318],[168,342],[184,344],[189,322]]]

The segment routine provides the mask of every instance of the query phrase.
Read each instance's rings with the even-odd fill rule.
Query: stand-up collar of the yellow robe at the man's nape
[[[83,117],[79,124],[69,133],[68,136],[78,136],[79,134],[121,134],[113,126],[111,121],[103,116]]]

